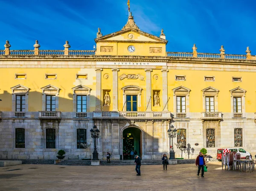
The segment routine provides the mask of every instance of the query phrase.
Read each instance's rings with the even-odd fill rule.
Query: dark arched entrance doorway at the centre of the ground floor
[[[131,156],[131,151],[137,152],[137,155],[142,156],[142,133],[139,128],[128,127],[123,131],[122,145],[123,145],[123,159],[133,160],[134,156]]]

